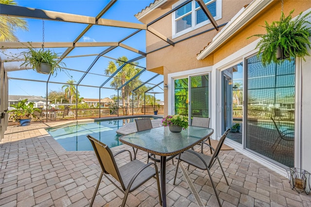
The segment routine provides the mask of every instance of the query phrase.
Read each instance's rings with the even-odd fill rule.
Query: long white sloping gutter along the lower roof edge
[[[259,12],[266,8],[273,0],[253,0],[246,8],[243,7],[231,21],[218,33],[212,40],[212,42],[200,52],[196,59],[202,60],[207,55],[218,49],[223,42],[234,35],[240,28],[242,28],[247,22],[252,20]]]

